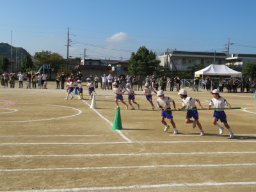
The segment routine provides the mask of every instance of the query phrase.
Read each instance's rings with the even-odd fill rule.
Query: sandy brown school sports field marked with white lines
[[[187,90],[204,108],[212,99]],[[185,124],[185,111],[173,112],[180,134],[164,132],[161,112],[143,95],[140,109],[120,103],[123,129],[113,130],[115,95],[96,92],[92,109],[86,88],[84,100],[64,100],[54,82],[47,90],[0,87],[0,191],[255,191],[254,93],[221,93],[241,108],[225,110],[229,139],[212,124],[213,110],[199,111],[205,136]],[[165,95],[181,108],[177,92]]]

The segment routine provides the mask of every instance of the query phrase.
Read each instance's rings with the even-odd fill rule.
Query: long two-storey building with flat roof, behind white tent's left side
[[[186,71],[187,67],[204,64],[225,64],[227,59],[225,52],[192,52],[192,51],[170,51],[159,56],[160,65],[170,68],[172,71]]]

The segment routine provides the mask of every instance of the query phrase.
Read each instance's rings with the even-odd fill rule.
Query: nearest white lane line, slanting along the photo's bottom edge
[[[174,188],[174,187],[195,187],[195,186],[237,186],[237,185],[255,185],[256,181],[248,182],[199,182],[199,183],[170,183],[154,184],[141,186],[113,186],[113,187],[94,187],[94,188],[64,188],[64,189],[34,189],[21,191],[0,191],[0,192],[62,192],[62,191],[95,191],[95,190],[116,190],[116,189],[149,189],[149,188]]]

